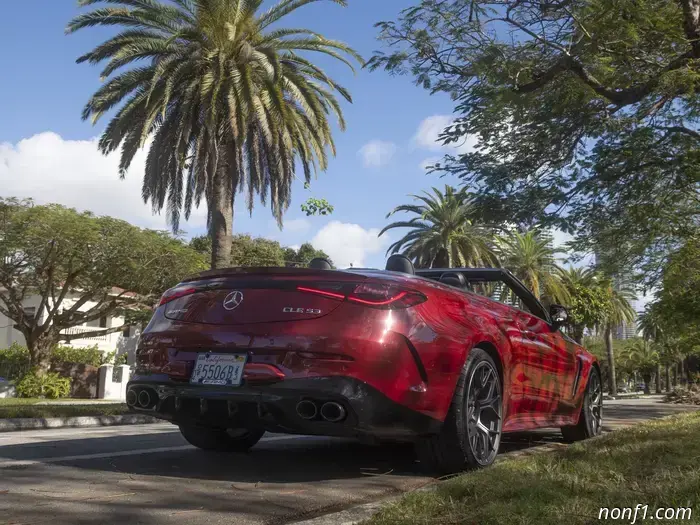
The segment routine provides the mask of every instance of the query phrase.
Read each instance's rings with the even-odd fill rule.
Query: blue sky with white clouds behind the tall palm
[[[382,49],[373,25],[395,20],[401,9],[412,5],[410,0],[348,3],[346,8],[330,1],[310,4],[287,17],[284,25],[342,40],[367,59]],[[76,64],[75,59],[113,34],[86,29],[66,36],[67,22],[85,10],[78,9],[76,0],[22,0],[3,6],[0,195],[57,202],[141,227],[167,229],[165,211],[153,214],[141,200],[145,151],[120,180],[117,156],[104,157],[96,146],[107,121],[93,125],[80,118],[101,84],[100,68]],[[234,232],[272,238],[285,246],[309,241],[339,267],[383,267],[386,249],[400,237],[400,230],[377,236],[388,223],[386,214],[410,202],[409,194],[457,182],[425,172],[426,165],[449,151],[436,139],[450,123],[454,105],[447,95],[431,96],[416,87],[410,77],[362,69],[353,74],[332,60],[316,61],[353,96],[352,104],[343,105],[347,130],[336,129],[334,135],[337,156],[310,190],[301,182],[295,184],[283,230],[261,204],[249,215],[241,196]],[[306,217],[300,206],[309,197],[327,199],[335,208],[333,214]],[[188,237],[204,233],[204,206],[181,229]]]

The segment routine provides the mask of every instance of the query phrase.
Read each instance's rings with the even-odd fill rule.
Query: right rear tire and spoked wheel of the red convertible
[[[502,392],[494,360],[484,350],[473,349],[462,368],[440,434],[416,443],[421,465],[441,474],[491,465],[501,441]]]

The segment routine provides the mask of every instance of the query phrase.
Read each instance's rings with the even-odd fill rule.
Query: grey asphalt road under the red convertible
[[[691,410],[607,402],[606,427]],[[504,436],[502,453],[557,442]],[[168,424],[0,434],[0,523],[285,524],[431,482],[410,450],[267,435],[250,454],[208,454]]]

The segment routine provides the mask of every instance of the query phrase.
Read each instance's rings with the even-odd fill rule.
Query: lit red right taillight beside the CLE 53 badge
[[[383,310],[409,308],[427,300],[420,292],[381,283],[353,284],[349,288],[348,285],[323,283],[314,286],[298,286],[297,290]]]

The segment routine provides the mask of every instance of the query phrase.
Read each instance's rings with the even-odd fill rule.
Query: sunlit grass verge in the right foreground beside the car
[[[700,523],[700,412],[552,453],[503,459],[445,481],[434,491],[408,494],[364,523],[593,524],[601,522],[601,507],[637,504],[648,504],[650,513],[659,507],[691,507],[692,519],[682,523]]]

